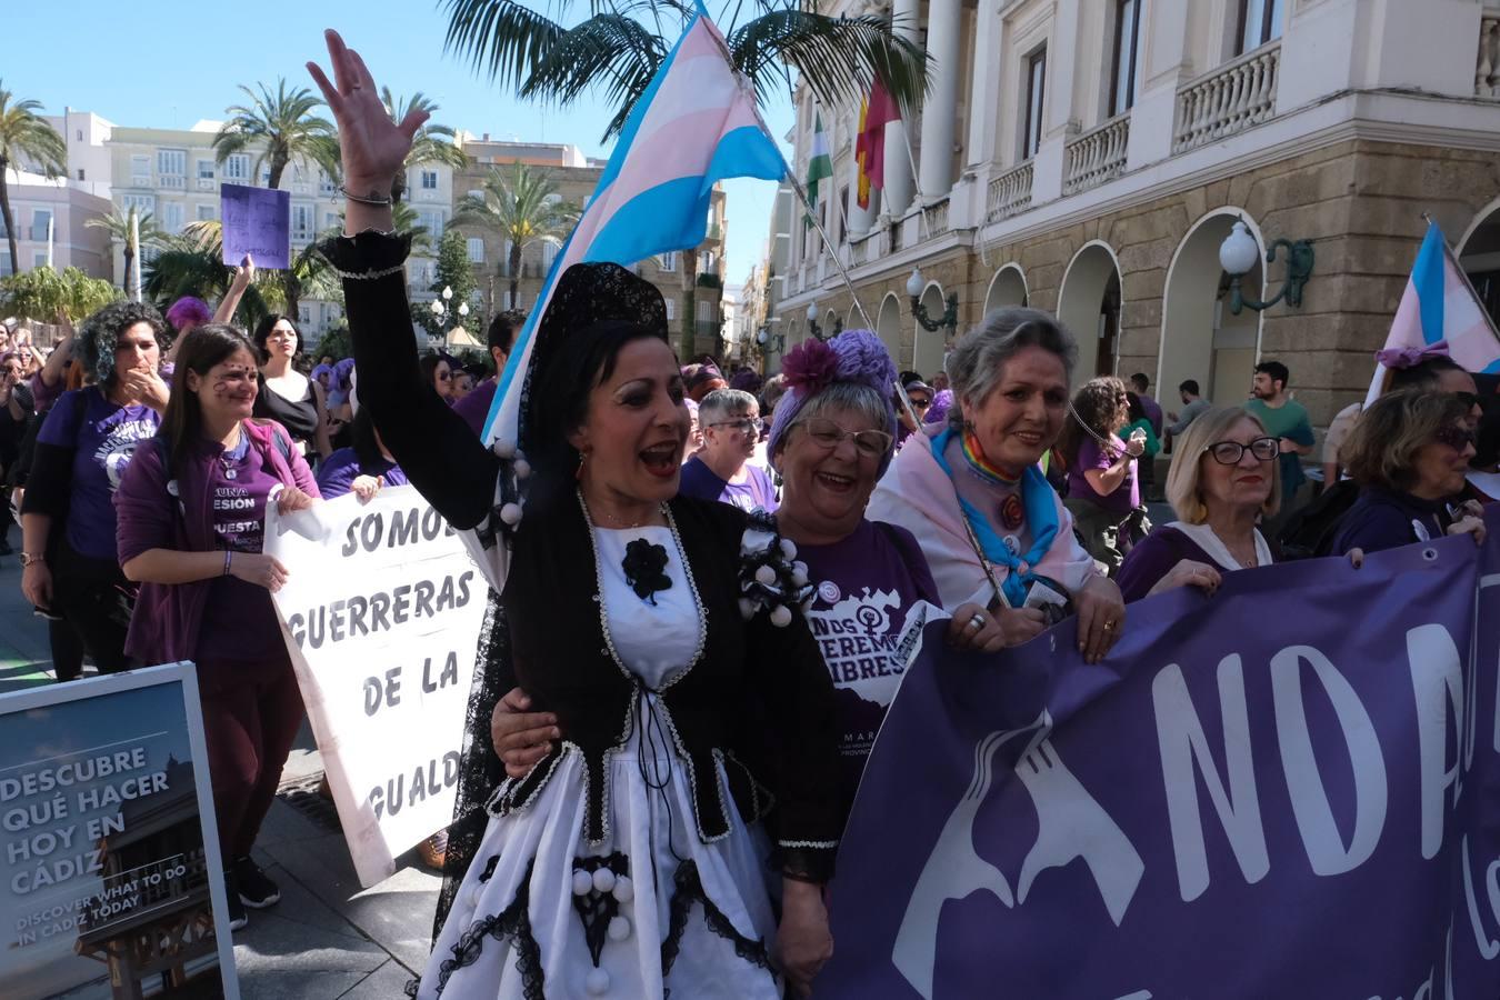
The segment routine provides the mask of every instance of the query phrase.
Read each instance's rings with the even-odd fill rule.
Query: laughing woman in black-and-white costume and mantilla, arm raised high
[[[484,448],[424,391],[388,192],[426,115],[393,123],[332,31],[328,54],[334,81],[309,70],[339,123],[350,208],[322,252],[345,279],[360,403],[501,595],[456,819],[472,823],[464,807],[478,802],[488,816],[477,849],[450,838],[460,885],[417,996],[772,1000],[776,969],[806,993],[832,951],[822,885],[838,810],[832,685],[795,546],[676,498],[682,378],[660,292],[626,268],[558,279],[519,442]],[[567,738],[524,778],[474,787],[498,774],[489,715],[518,682]]]

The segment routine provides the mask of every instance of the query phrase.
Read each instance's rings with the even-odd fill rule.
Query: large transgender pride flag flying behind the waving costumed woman
[[[724,36],[699,6],[630,112],[578,228],[548,271],[500,378],[484,442],[516,441],[532,333],[562,271],[578,262],[628,265],[694,249],[708,234],[714,181],[780,180],[784,171],[786,160],[756,111],[754,90],[735,72]]]

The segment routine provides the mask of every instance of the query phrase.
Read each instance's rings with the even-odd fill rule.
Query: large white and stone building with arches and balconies
[[[894,3],[933,85],[915,121],[886,127],[868,208],[849,193],[858,108],[796,94],[798,175],[814,114],[836,151],[819,198],[836,249],[792,226],[776,306],[789,345],[812,306],[825,330],[868,322],[898,367],[932,375],[956,333],[1026,303],[1078,337],[1078,381],[1144,372],[1174,399],[1191,378],[1236,402],[1275,357],[1326,424],[1368,387],[1422,213],[1455,244],[1486,237],[1500,198],[1490,0]],[[1300,306],[1228,309],[1218,247],[1236,220],[1262,250],[1312,244]],[[1500,229],[1485,252],[1470,270],[1500,271]],[[1286,258],[1246,274],[1245,297],[1274,297]],[[956,300],[956,328],[914,319],[914,267],[928,316]]]

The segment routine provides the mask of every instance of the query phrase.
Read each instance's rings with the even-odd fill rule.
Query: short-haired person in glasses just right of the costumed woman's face
[[[760,405],[738,388],[716,388],[698,405],[704,447],[682,465],[681,496],[716,499],[740,510],[776,511],[776,484],[750,462],[760,441]]]

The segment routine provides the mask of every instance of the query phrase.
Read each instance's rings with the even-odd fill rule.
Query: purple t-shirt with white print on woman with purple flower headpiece
[[[900,540],[900,541],[897,541]],[[891,663],[918,601],[940,604],[916,538],[904,528],[861,520],[848,538],[800,546],[816,589],[807,625],[834,682],[840,801],[844,816],[904,666]]]

